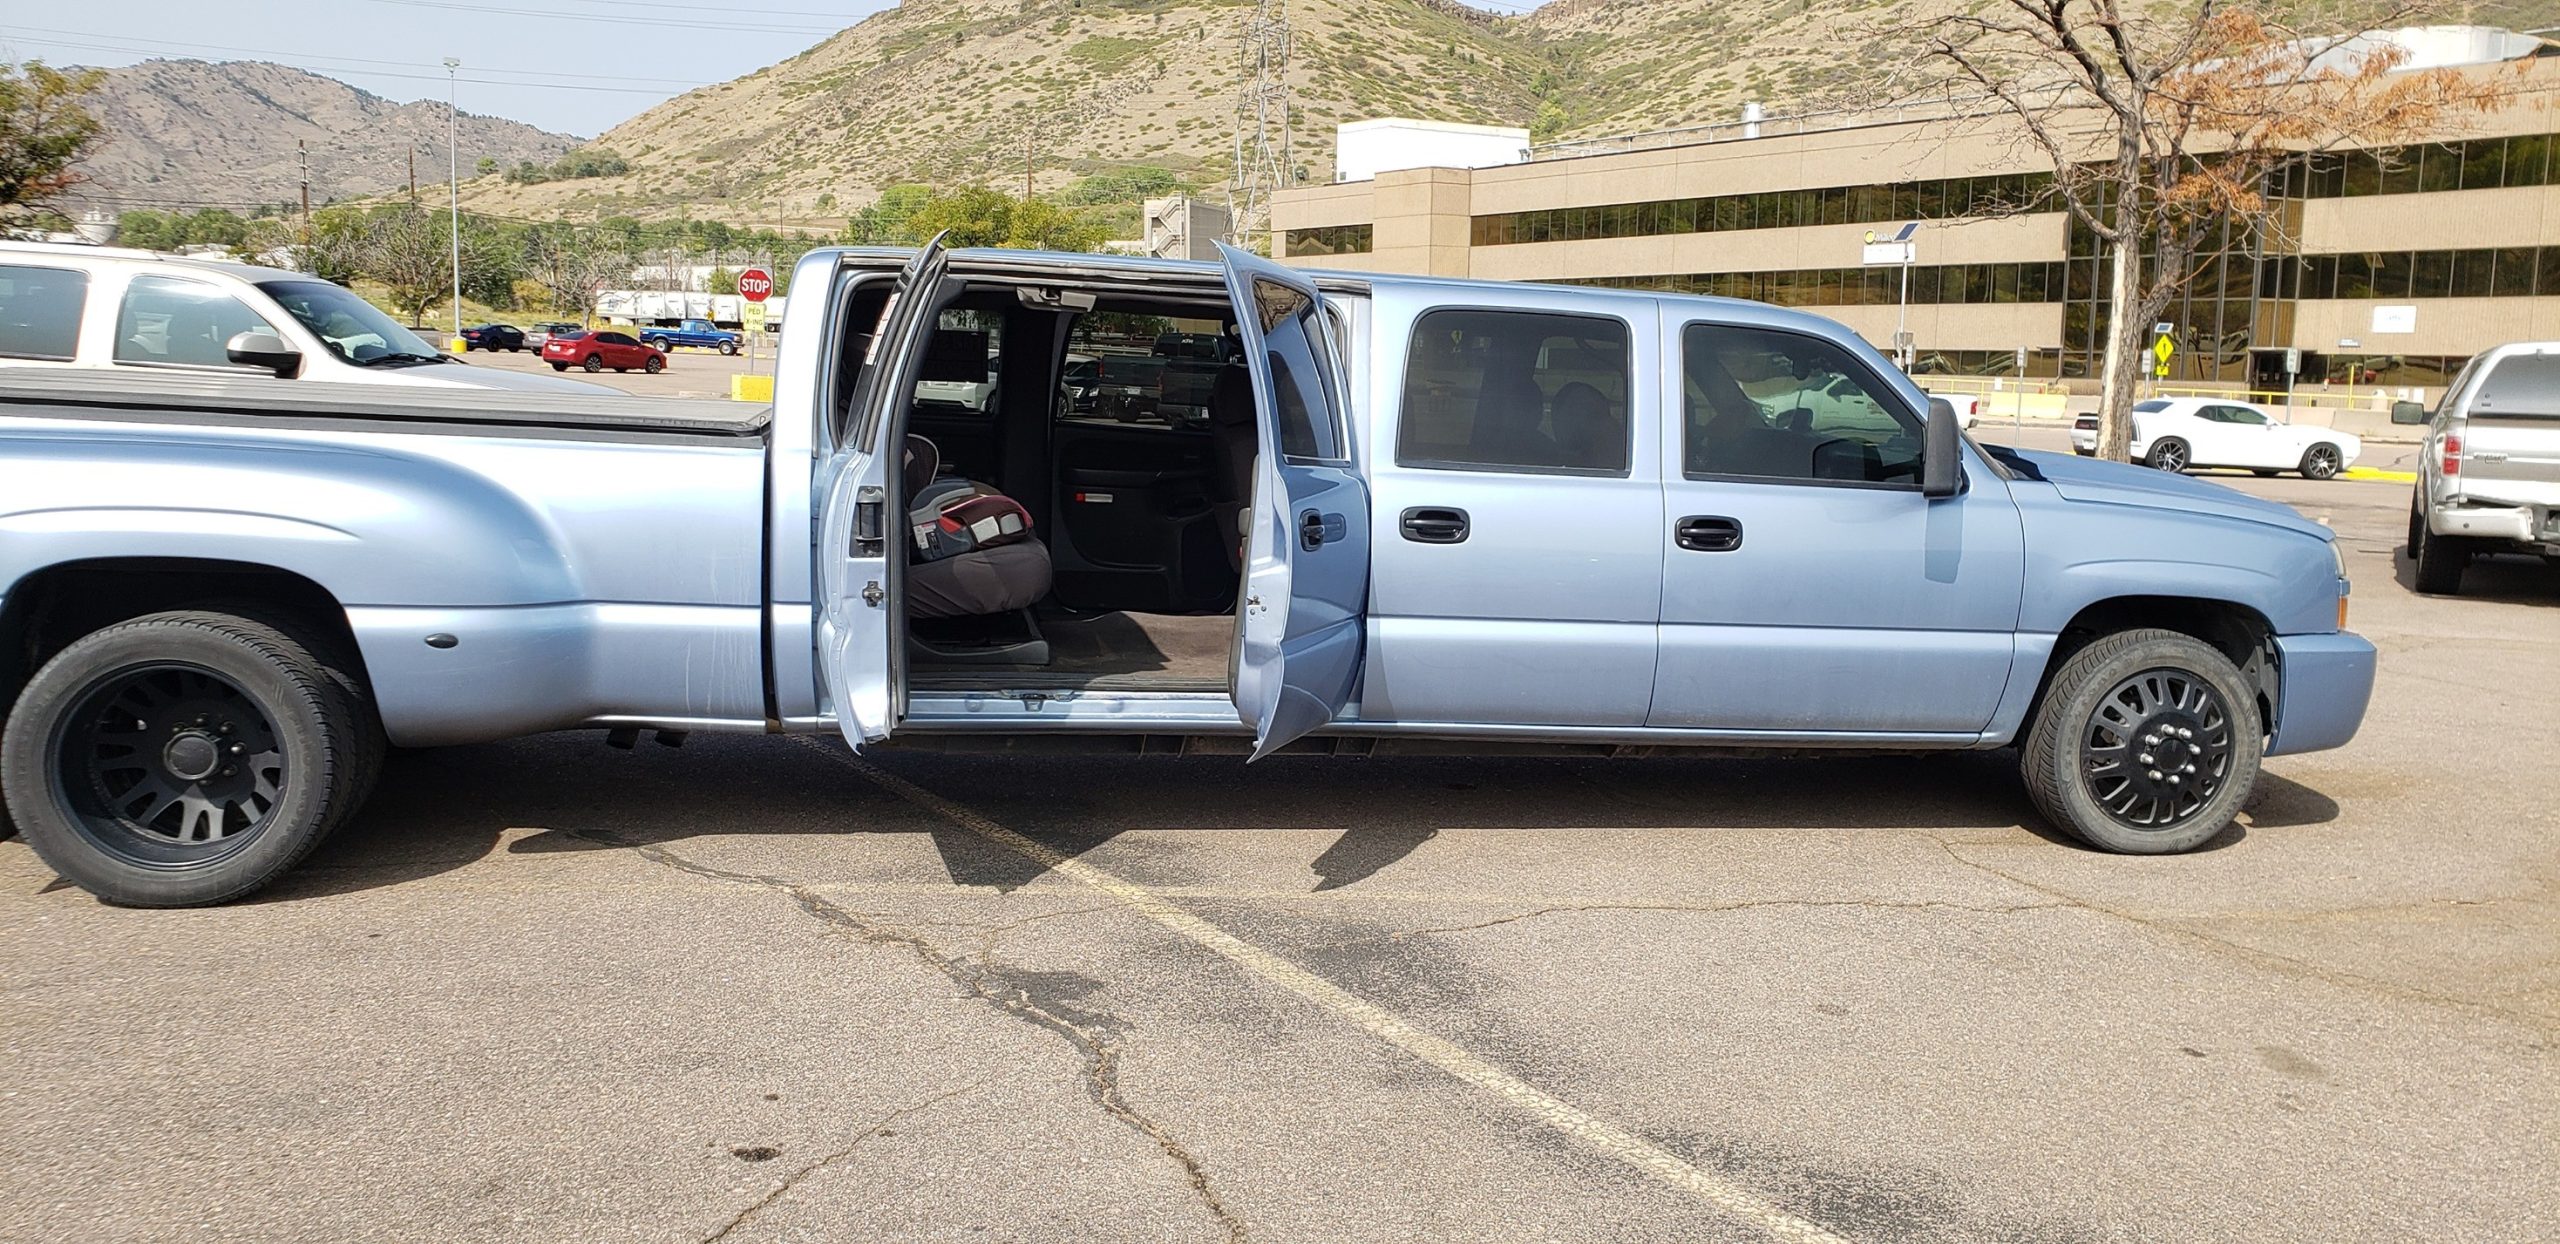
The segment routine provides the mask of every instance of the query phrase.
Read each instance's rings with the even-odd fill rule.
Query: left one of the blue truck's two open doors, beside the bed
[[[888,737],[899,714],[896,658],[906,630],[899,578],[906,548],[891,538],[906,527],[899,512],[906,504],[899,497],[906,445],[893,445],[891,435],[899,430],[899,399],[914,389],[914,363],[934,325],[947,261],[942,238],[934,238],[899,274],[852,389],[845,440],[817,474],[824,494],[817,525],[817,663],[835,724],[855,750]]]

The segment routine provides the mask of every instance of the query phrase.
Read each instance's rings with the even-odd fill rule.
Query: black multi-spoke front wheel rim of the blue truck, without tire
[[[2230,776],[2232,714],[2204,678],[2150,668],[2089,712],[2081,781],[2125,829],[2171,829],[2212,804]]]

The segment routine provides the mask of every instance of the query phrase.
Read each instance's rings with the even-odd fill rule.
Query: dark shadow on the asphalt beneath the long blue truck
[[[1119,758],[878,753],[868,763],[1039,842],[1085,855],[1126,832],[1318,832],[1313,891],[1359,886],[1452,829],[1715,834],[1823,829],[2007,829],[2053,850],[2086,850],[2045,827],[2007,753],[1810,760],[1654,758]],[[2250,829],[2314,827],[2337,801],[2260,776]],[[929,840],[940,868],[860,840]],[[300,901],[435,878],[492,857],[602,852],[689,840],[788,842],[845,837],[847,850],[796,881],[899,881],[1014,891],[1047,865],[955,827],[847,768],[845,755],[768,737],[701,737],[684,750],[614,753],[589,735],[399,755],[366,811],[261,901]],[[1157,842],[1152,840],[1152,842]],[[1180,840],[1178,840],[1180,842]],[[499,852],[504,845],[504,852]],[[1216,881],[1216,845],[1149,850],[1139,881]],[[758,850],[758,857],[771,852]],[[740,865],[748,868],[748,865]],[[1119,865],[1116,865],[1119,868]]]

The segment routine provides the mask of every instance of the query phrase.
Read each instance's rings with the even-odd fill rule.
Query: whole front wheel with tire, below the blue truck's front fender
[[[2258,696],[2230,658],[2173,630],[2127,630],[2053,673],[2020,776],[2035,811],[2071,837],[2176,855],[2248,804],[2263,737]]]

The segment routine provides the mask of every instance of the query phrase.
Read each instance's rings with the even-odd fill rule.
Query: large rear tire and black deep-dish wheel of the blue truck
[[[348,811],[364,732],[312,655],[259,622],[169,612],[46,660],[0,735],[36,855],[118,906],[251,893]]]

